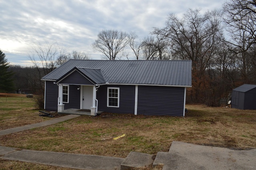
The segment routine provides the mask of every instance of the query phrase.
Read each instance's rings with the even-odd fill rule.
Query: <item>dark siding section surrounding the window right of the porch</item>
[[[119,108],[107,107],[107,88],[119,87]],[[135,86],[133,85],[103,85],[97,91],[98,111],[111,113],[131,113],[134,114]]]

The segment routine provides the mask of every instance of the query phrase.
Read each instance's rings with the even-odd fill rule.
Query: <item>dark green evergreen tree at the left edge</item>
[[[11,92],[14,90],[12,76],[14,73],[8,71],[10,67],[5,54],[0,49],[0,92]]]

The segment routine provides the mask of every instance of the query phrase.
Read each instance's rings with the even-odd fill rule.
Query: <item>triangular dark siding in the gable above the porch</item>
[[[89,81],[86,77],[78,73],[78,71],[74,71],[68,77],[60,81],[60,84],[73,84],[73,85],[94,85],[91,81]]]

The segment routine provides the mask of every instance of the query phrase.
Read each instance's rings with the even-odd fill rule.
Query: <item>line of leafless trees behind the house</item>
[[[228,0],[222,9],[204,14],[199,9],[189,9],[182,18],[169,14],[163,28],[153,28],[142,40],[135,32],[102,30],[92,47],[109,60],[131,59],[130,53],[137,60],[192,60],[187,102],[217,106],[235,87],[256,83],[255,20],[255,0]],[[68,59],[90,58],[82,52],[66,53],[57,43],[33,45],[28,56],[34,67],[26,69],[34,69],[32,73],[37,75],[28,71],[31,78],[23,80],[24,86],[27,83],[42,91],[40,77]],[[18,70],[18,66],[9,69]],[[33,77],[38,80],[33,82]]]

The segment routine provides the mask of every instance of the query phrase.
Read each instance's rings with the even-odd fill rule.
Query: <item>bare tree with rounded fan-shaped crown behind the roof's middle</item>
[[[102,30],[98,34],[98,39],[92,43],[92,47],[96,51],[103,53],[105,59],[120,59],[122,51],[128,45],[128,34],[118,30]],[[121,55],[118,55],[121,54]]]

